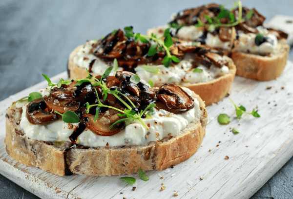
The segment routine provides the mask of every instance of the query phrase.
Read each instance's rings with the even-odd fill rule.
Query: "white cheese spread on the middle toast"
[[[90,40],[87,41],[84,46],[77,52],[76,56],[73,58],[73,63],[79,67],[84,67],[89,69],[89,63],[95,59],[94,64],[92,65],[91,70],[93,73],[98,75],[103,75],[107,65],[103,60],[97,58],[96,56],[89,54],[89,50],[92,48],[92,44],[96,41]],[[192,42],[186,42],[187,45],[191,45]],[[151,65],[151,64],[149,64]],[[173,84],[193,84],[199,82],[210,81],[216,77],[223,76],[229,73],[229,68],[227,66],[222,66],[218,68],[214,65],[211,65],[210,68],[205,67],[204,65],[198,66],[198,68],[203,70],[203,73],[193,73],[192,72],[192,54],[186,54],[184,59],[174,66],[165,67],[162,65],[156,65],[159,68],[159,74],[152,74],[147,72],[143,65],[138,65],[135,67],[135,72],[143,80],[152,80],[154,84],[164,84],[164,83],[173,83]],[[119,67],[119,71],[122,71],[123,68]],[[115,75],[112,72],[110,75]]]

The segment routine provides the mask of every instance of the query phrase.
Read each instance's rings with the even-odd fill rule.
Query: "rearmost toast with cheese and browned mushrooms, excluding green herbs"
[[[213,48],[223,48],[229,51],[230,58],[234,61],[237,68],[237,76],[260,81],[274,80],[279,77],[287,63],[289,46],[286,43],[286,39],[288,35],[280,30],[263,27],[263,22],[266,18],[258,13],[256,9],[253,8],[250,10],[246,7],[242,8],[243,19],[245,19],[249,11],[253,11],[251,18],[231,28],[220,27],[218,28],[218,31],[209,32],[207,27],[206,30],[203,30],[205,29],[203,26],[197,28],[194,26],[197,24],[197,20],[201,20],[207,23],[207,19],[205,19],[204,16],[215,17],[219,14],[219,11],[220,5],[215,3],[210,3],[181,11],[177,14],[177,16],[173,16],[173,18],[171,17],[169,23],[178,23],[179,25],[182,25],[182,27],[179,29],[171,28],[171,32],[174,33],[174,37],[177,37],[181,40],[201,41],[201,37],[205,34],[206,37],[204,37],[204,42],[207,41],[207,34],[213,35],[215,38],[220,38],[214,40],[214,42],[209,41],[209,44],[207,43],[207,45],[210,45],[210,47]],[[238,8],[232,11],[232,14],[235,16],[238,16],[238,13]],[[222,18],[221,20],[223,20],[223,23],[227,23],[227,19],[226,21],[225,18]],[[158,36],[162,36],[165,29],[168,27],[169,25],[163,25],[148,29],[147,35],[150,36],[153,33],[158,34]],[[185,31],[183,31],[181,28],[185,28]],[[222,30],[228,31],[221,31],[221,28]],[[277,42],[276,48],[270,53],[265,52],[267,50],[264,50],[263,52],[253,52],[255,51],[254,48],[257,47],[256,45],[253,45],[252,49],[249,49],[250,51],[248,52],[246,52],[245,49],[241,49],[241,47],[239,48],[239,34],[249,35],[251,33],[255,35],[263,34],[268,36],[271,34],[276,36],[277,40],[274,41]],[[244,41],[245,40],[246,39],[244,39]],[[249,46],[249,43],[246,42],[244,42],[245,44],[243,45]]]

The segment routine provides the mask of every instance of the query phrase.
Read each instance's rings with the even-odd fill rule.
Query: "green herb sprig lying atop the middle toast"
[[[156,35],[152,34],[151,36],[142,35],[140,33],[134,34],[132,31],[132,26],[128,26],[124,28],[126,34],[125,37],[128,38],[134,38],[135,41],[140,40],[143,43],[147,43],[150,41],[151,45],[148,49],[147,56],[153,56],[155,55],[158,50],[162,52],[166,52],[166,56],[164,60],[162,61],[165,67],[168,67],[172,61],[174,62],[180,62],[180,60],[170,53],[170,47],[173,45],[173,40],[170,35],[170,28],[167,28],[164,32],[164,35],[160,38],[157,38]]]

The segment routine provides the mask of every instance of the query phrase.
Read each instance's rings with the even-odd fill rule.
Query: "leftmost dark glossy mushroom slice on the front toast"
[[[57,120],[58,115],[48,112],[44,100],[40,98],[27,105],[26,118],[32,124],[43,124]]]

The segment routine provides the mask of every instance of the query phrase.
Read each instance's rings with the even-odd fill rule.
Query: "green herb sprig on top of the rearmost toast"
[[[235,21],[235,16],[231,13],[234,8],[238,7],[239,9],[239,16],[238,19]],[[249,20],[252,17],[253,10],[250,10],[246,17],[242,19],[242,3],[241,1],[234,2],[234,6],[227,10],[224,8],[224,5],[221,5],[221,11],[216,17],[209,17],[205,15],[205,18],[208,20],[208,23],[203,23],[201,20],[197,19],[198,23],[195,25],[195,27],[208,27],[209,32],[213,32],[218,27],[231,27],[238,25],[239,23],[245,22],[246,20]],[[220,19],[222,18],[229,18],[228,23],[221,23]]]

